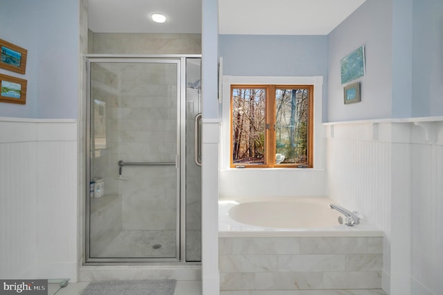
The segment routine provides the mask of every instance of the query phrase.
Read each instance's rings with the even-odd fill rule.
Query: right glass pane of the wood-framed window
[[[275,89],[275,163],[307,164],[308,106],[308,89]]]

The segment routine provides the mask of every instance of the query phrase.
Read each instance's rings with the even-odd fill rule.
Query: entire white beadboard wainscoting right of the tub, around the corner
[[[328,196],[384,231],[385,292],[443,294],[443,118],[324,125]]]

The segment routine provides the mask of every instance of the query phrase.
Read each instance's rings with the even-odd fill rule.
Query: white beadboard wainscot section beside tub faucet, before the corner
[[[328,127],[327,195],[383,230],[383,270],[389,272],[392,144],[374,140],[379,133],[378,124]]]

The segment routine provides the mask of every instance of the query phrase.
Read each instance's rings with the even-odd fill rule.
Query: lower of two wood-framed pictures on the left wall
[[[26,84],[27,81],[0,74],[0,102],[26,104]]]

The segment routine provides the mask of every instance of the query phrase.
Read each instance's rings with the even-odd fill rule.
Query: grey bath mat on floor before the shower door
[[[177,280],[117,280],[93,282],[82,295],[173,295]]]

